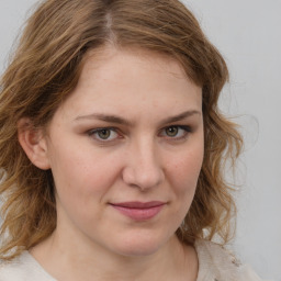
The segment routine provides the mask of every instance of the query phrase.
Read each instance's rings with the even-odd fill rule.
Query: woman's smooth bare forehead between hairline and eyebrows
[[[140,108],[167,113],[187,106],[199,110],[201,99],[201,88],[172,57],[144,49],[104,48],[86,55],[78,85],[63,108],[70,104],[72,112],[86,114],[95,110],[136,113]]]

